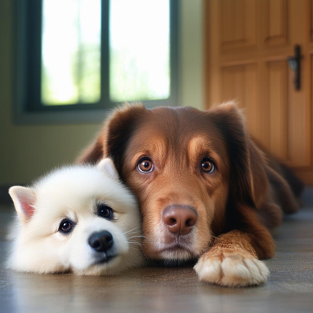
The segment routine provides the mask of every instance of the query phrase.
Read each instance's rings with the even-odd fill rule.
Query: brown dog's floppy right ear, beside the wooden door
[[[233,199],[257,206],[268,189],[264,169],[266,160],[247,134],[241,110],[233,102],[228,102],[208,113],[227,144]]]

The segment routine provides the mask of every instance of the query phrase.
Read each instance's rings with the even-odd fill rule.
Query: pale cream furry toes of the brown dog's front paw
[[[264,283],[266,265],[243,249],[217,249],[203,254],[194,266],[199,280],[226,287],[245,287]]]

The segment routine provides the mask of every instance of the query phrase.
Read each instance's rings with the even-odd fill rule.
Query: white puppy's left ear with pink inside
[[[27,222],[35,212],[33,207],[36,201],[35,193],[27,187],[13,186],[9,189],[9,194],[18,213],[18,218],[23,223]]]

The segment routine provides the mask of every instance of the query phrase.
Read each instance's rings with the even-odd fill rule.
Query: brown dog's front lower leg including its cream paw
[[[258,258],[254,235],[239,230],[219,235],[194,269],[201,281],[229,287],[259,285],[269,270]]]

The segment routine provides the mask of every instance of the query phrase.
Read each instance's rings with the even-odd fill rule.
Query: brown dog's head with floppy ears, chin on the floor
[[[83,160],[103,156],[138,197],[151,259],[198,257],[236,219],[235,203],[253,207],[266,191],[263,156],[231,103],[207,112],[126,105]]]

